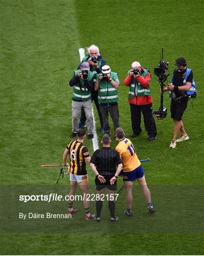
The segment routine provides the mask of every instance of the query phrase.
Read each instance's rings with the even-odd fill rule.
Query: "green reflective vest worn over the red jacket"
[[[129,73],[130,73],[130,70],[128,71],[128,74],[129,74]],[[144,68],[144,72],[142,73],[142,76],[145,77],[147,73],[149,73],[149,71]],[[135,98],[135,89],[136,89],[136,86],[137,86],[137,95],[138,95],[138,96],[151,95],[149,86],[147,86],[146,88],[144,88],[139,82],[137,82],[137,80],[136,80],[135,77],[133,76],[133,77],[132,77],[132,80],[131,80],[129,92],[128,92],[128,98],[129,98],[129,99]]]

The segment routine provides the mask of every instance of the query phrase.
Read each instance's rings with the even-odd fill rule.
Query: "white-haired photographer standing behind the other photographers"
[[[78,66],[78,69],[80,69],[80,66],[83,62],[88,62],[90,66],[90,71],[94,73],[93,82],[95,82],[96,81],[95,74],[102,73],[101,68],[102,66],[105,65],[105,60],[102,58],[102,55],[99,52],[98,46],[91,45],[90,47],[87,48],[87,51],[88,51],[88,55],[83,58],[82,62]],[[94,89],[92,90],[92,101],[95,102],[95,106],[98,111],[98,115],[101,123],[101,131],[104,132],[102,114],[100,112],[99,103],[98,103],[98,91],[95,91]],[[85,121],[86,121],[85,111],[82,107],[79,128],[85,127]]]

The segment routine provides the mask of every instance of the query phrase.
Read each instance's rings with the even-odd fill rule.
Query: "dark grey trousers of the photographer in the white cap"
[[[102,119],[103,119],[103,129],[105,131],[105,134],[110,134],[110,125],[109,125],[109,120],[108,116],[110,113],[110,117],[113,121],[113,126],[114,130],[119,127],[119,109],[118,109],[118,104],[109,106],[107,108],[103,108],[100,104],[100,111],[102,113]]]

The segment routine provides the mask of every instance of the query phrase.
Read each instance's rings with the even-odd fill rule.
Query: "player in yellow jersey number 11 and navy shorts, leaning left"
[[[116,151],[119,152],[120,158],[123,164],[123,182],[126,189],[126,203],[127,210],[124,211],[125,215],[132,217],[132,187],[133,182],[137,179],[142,190],[144,198],[147,202],[149,212],[154,213],[153,204],[151,201],[151,193],[147,187],[145,181],[144,172],[140,161],[137,158],[135,148],[131,141],[125,137],[124,130],[122,128],[116,129],[116,139],[119,144],[116,146]]]

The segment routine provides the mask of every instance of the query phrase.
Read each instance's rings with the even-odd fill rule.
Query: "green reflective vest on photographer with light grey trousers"
[[[78,72],[79,70],[74,71],[75,76],[77,75]],[[89,71],[87,80],[91,81],[91,79],[93,78],[93,75],[94,75],[93,72]],[[79,81],[74,86],[72,99],[75,99],[77,101],[90,100],[92,98],[91,91],[85,87],[84,80],[82,80],[81,77],[79,77]]]

